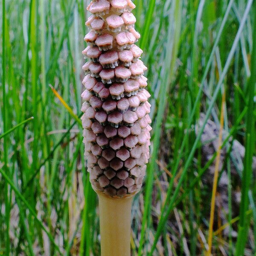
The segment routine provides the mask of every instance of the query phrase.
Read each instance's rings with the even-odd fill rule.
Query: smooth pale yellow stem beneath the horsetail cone
[[[99,221],[101,256],[131,256],[131,203],[133,197],[111,198],[101,192]]]

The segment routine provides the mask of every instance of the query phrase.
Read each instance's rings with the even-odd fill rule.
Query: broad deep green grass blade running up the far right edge
[[[253,50],[251,62],[251,76],[248,81],[248,112],[246,119],[246,134],[245,134],[245,156],[244,170],[242,173],[242,188],[241,188],[241,203],[239,210],[239,231],[236,241],[236,256],[244,255],[244,247],[247,241],[248,223],[245,212],[249,206],[248,192],[252,177],[252,158],[254,148],[255,135],[255,117],[254,117],[254,92],[256,85],[256,2],[253,5],[254,25],[253,25]]]

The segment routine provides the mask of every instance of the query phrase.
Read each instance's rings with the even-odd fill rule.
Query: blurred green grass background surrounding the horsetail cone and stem
[[[0,255],[98,256],[78,121],[89,1],[0,2]],[[256,4],[134,3],[153,131],[132,255],[256,255]]]

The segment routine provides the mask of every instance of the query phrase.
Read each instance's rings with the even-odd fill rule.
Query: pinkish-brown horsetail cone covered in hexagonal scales
[[[149,158],[150,94],[134,8],[131,0],[93,0],[85,23],[84,155],[93,189],[113,198],[140,191]]]

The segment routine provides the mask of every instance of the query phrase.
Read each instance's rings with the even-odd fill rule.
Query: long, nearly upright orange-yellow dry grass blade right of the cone
[[[218,137],[218,151],[216,156],[215,170],[214,170],[214,178],[213,178],[213,186],[212,186],[212,200],[211,200],[211,212],[210,212],[210,223],[209,223],[209,236],[208,236],[208,250],[207,256],[211,256],[212,253],[212,228],[214,221],[214,210],[215,210],[215,198],[216,198],[216,190],[218,185],[218,171],[219,171],[219,163],[221,156],[221,144],[222,144],[222,132],[224,125],[224,108],[225,108],[225,91],[222,94],[221,100],[221,119],[220,119],[220,132]]]

